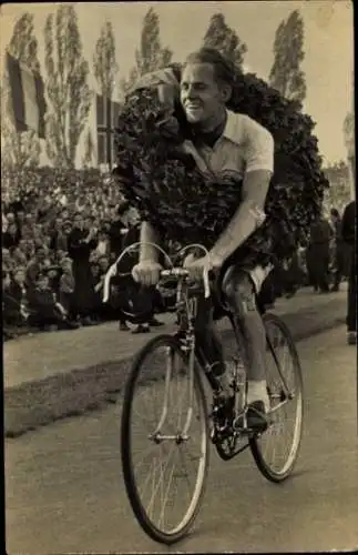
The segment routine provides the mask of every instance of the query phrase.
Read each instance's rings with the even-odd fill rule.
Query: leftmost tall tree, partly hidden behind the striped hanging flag
[[[7,50],[29,69],[40,71],[33,16],[25,12],[16,22]],[[3,135],[2,167],[16,167],[21,170],[39,165],[41,147],[35,131],[19,133],[16,130],[7,69],[4,69],[1,84],[1,134]]]

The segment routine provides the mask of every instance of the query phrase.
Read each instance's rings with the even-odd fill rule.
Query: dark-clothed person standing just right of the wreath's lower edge
[[[329,222],[318,216],[310,226],[310,238],[307,248],[307,270],[309,282],[315,291],[328,293],[329,243],[333,238]]]

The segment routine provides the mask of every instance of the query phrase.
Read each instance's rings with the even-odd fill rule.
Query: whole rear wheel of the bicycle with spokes
[[[303,432],[303,376],[295,342],[286,324],[265,314],[266,380],[270,401],[269,426],[249,441],[258,470],[272,482],[293,472]]]

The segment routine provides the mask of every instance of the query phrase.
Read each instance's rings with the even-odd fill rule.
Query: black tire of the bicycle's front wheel
[[[135,386],[139,380],[139,375],[143,365],[145,363],[145,359],[153,352],[155,352],[158,347],[171,347],[175,353],[177,353],[183,360],[184,364],[186,364],[185,355],[181,350],[181,343],[177,339],[172,335],[158,335],[151,340],[146,345],[144,345],[141,351],[135,356],[132,369],[129,374],[129,379],[124,390],[124,401],[123,401],[123,411],[122,411],[122,424],[121,424],[121,458],[122,458],[122,471],[124,477],[124,484],[126,488],[126,494],[134,512],[134,515],[141,525],[142,529],[154,541],[171,545],[180,539],[182,539],[191,529],[194,524],[194,521],[200,512],[205,486],[207,480],[207,471],[209,464],[209,431],[208,431],[208,416],[207,416],[207,403],[204,393],[203,383],[200,376],[200,367],[196,365],[195,361],[195,370],[194,370],[194,387],[196,390],[196,394],[198,395],[198,400],[201,403],[201,411],[203,420],[203,433],[204,433],[204,462],[202,464],[200,484],[195,485],[194,496],[195,503],[190,507],[185,517],[182,521],[182,525],[175,528],[173,532],[164,532],[160,529],[157,525],[155,525],[151,518],[149,517],[145,507],[143,506],[142,500],[139,494],[139,490],[136,486],[134,470],[132,465],[132,455],[131,455],[131,417],[132,417],[132,404],[133,397],[135,394]],[[140,385],[139,385],[140,386]],[[202,440],[203,441],[203,440]],[[198,478],[196,480],[198,482]],[[194,498],[193,496],[193,498]]]

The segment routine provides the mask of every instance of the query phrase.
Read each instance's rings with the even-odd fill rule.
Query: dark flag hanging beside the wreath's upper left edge
[[[98,163],[108,164],[110,169],[115,162],[114,130],[121,104],[101,94],[96,94],[96,134]]]

